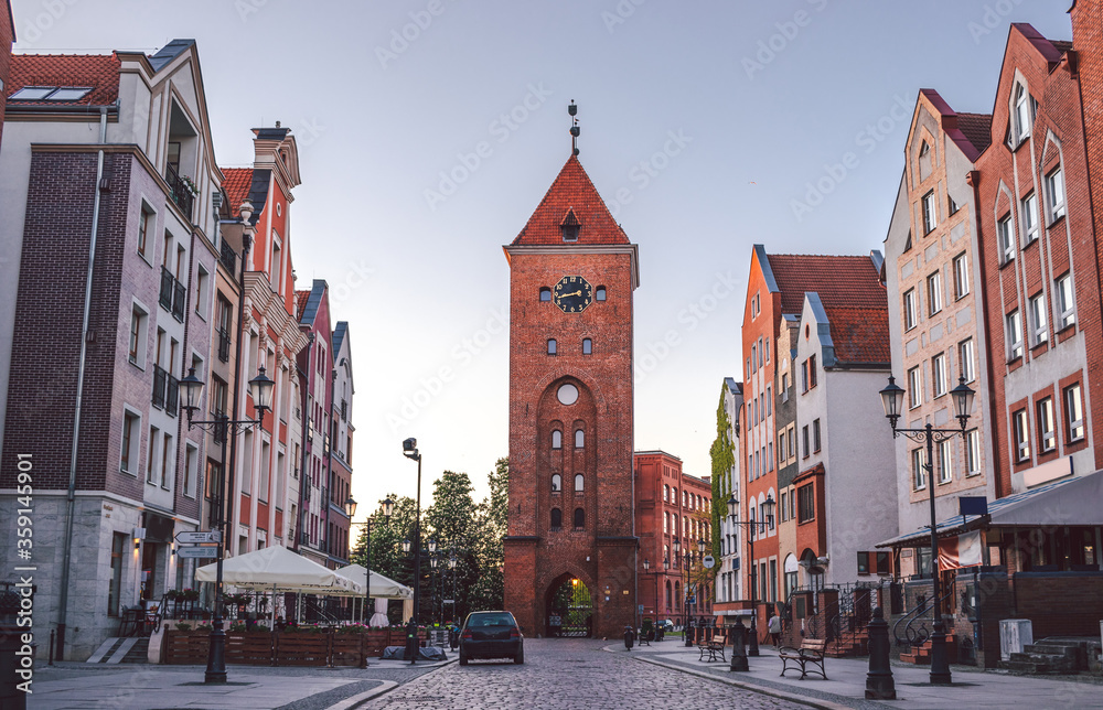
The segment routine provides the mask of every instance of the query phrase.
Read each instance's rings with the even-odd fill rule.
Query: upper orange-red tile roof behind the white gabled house
[[[804,293],[815,291],[825,309],[886,308],[885,287],[868,256],[771,254],[770,268],[781,291],[781,312],[800,315]]]

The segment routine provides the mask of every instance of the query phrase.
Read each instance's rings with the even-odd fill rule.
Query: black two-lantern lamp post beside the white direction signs
[[[180,380],[180,389],[183,394],[181,409],[188,412],[188,428],[200,427],[205,431],[214,431],[222,434],[222,481],[218,482],[218,491],[215,505],[217,516],[215,525],[218,527],[218,557],[215,561],[215,596],[214,596],[214,618],[211,624],[211,644],[207,646],[207,667],[203,676],[203,682],[226,682],[226,631],[222,627],[222,560],[225,553],[226,536],[226,442],[229,437],[237,435],[238,431],[260,427],[265,420],[265,412],[272,406],[272,389],[276,385],[265,375],[261,367],[257,376],[249,380],[249,394],[253,396],[253,405],[257,410],[257,418],[232,420],[225,415],[215,419],[197,421],[192,419],[195,410],[200,408],[199,401],[203,392],[203,380],[195,376],[195,368],[188,369],[188,376]]]

